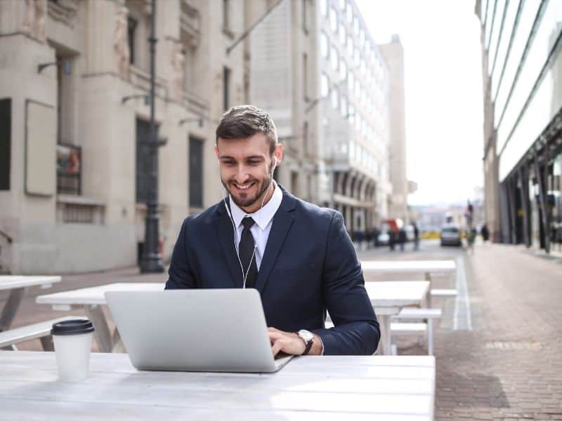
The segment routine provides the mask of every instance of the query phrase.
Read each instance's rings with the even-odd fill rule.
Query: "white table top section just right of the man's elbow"
[[[429,286],[429,281],[365,282],[365,289],[375,309],[420,305],[426,298]]]

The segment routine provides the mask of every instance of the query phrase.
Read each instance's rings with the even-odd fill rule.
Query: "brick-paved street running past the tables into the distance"
[[[412,243],[405,248],[404,252],[379,248],[359,255],[384,260],[449,258],[459,266],[457,279],[433,280],[434,286],[456,286],[459,292],[456,300],[433,302],[443,309],[435,338],[436,419],[562,420],[562,260],[521,246],[490,243],[477,243],[473,253],[441,248],[437,241],[422,241],[418,251],[412,250]],[[70,275],[48,292],[165,278],[164,274],[138,275],[136,268]],[[406,280],[405,276],[384,279]],[[34,297],[46,291],[28,292],[16,326],[63,315],[34,303]],[[399,354],[424,352],[414,340],[399,340],[398,347]],[[37,340],[20,349],[41,348]]]

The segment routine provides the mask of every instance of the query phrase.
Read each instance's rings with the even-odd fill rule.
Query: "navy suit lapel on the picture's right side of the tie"
[[[263,253],[263,259],[261,260],[258,272],[258,280],[256,281],[256,289],[259,290],[260,294],[263,293],[263,290],[266,288],[271,270],[275,266],[277,256],[281,251],[285,238],[287,238],[289,229],[294,221],[292,210],[296,204],[296,199],[287,193],[285,189],[282,189],[282,191],[283,199],[281,201],[281,206],[277,209],[273,217],[266,250]]]

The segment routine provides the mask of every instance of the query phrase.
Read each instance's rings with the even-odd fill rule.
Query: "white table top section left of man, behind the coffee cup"
[[[161,291],[164,290],[164,286],[164,283],[157,282],[106,283],[91,288],[78,288],[61,293],[39,295],[35,302],[53,305],[103,305],[106,304],[105,295],[103,295],[106,291]]]

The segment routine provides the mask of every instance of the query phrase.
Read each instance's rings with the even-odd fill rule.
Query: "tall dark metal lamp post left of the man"
[[[158,251],[158,139],[155,123],[155,79],[156,79],[156,0],[152,0],[150,15],[150,178],[145,218],[145,246],[141,259],[141,272],[164,272],[162,256]]]

